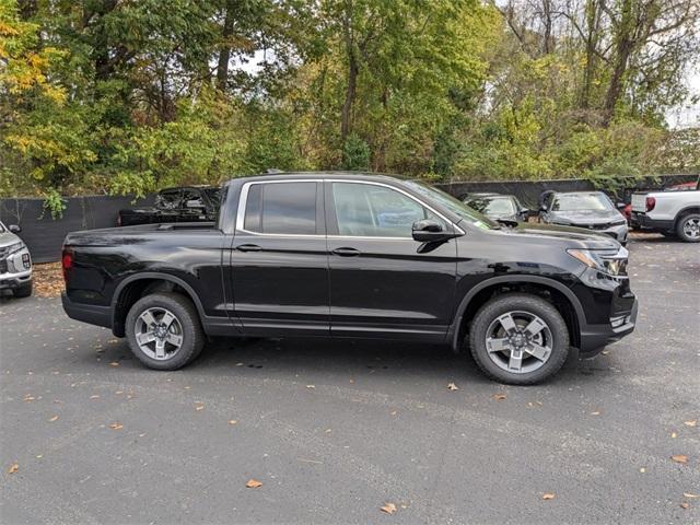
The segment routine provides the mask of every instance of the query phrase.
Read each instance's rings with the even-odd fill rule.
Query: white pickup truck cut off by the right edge
[[[635,191],[631,223],[641,230],[678,236],[687,243],[700,242],[700,178],[696,189]]]

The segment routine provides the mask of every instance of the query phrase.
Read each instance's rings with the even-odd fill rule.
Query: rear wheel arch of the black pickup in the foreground
[[[200,320],[205,318],[205,310],[197,292],[185,280],[171,273],[145,271],[124,279],[114,292],[112,299],[112,331],[115,336],[124,336],[125,319],[131,305],[140,298],[155,290],[183,293],[197,308]]]

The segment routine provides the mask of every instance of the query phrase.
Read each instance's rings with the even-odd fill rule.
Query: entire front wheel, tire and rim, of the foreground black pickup
[[[469,331],[471,355],[492,380],[540,383],[569,355],[569,330],[550,303],[537,295],[500,295],[477,312]]]

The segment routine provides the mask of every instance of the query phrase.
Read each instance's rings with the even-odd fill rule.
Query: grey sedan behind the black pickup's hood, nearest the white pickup
[[[551,191],[539,217],[547,224],[585,228],[627,244],[627,219],[603,191]]]

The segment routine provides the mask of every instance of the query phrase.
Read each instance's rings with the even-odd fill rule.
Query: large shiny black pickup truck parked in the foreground
[[[532,384],[570,347],[634,329],[627,250],[585,230],[503,228],[447,194],[380,175],[237,178],[215,223],[71,233],[63,307],[175,370],[208,336],[328,336],[466,345]]]

